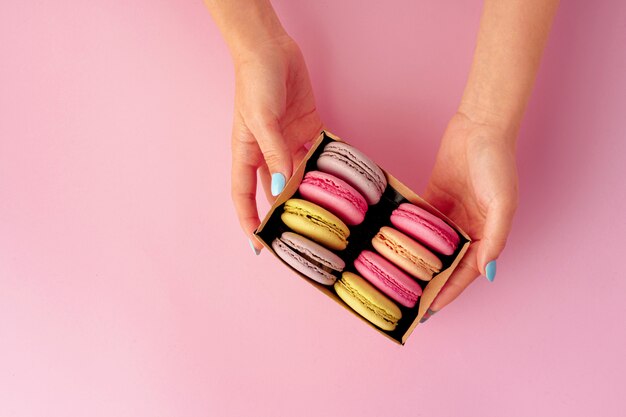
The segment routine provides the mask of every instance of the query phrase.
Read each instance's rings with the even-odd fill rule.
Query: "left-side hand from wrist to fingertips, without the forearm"
[[[231,195],[239,223],[251,237],[260,224],[257,172],[268,200],[273,200],[322,122],[304,58],[290,37],[265,40],[234,56],[234,62]],[[261,246],[253,242],[258,254]]]

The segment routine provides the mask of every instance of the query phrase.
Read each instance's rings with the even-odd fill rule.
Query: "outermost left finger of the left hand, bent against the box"
[[[252,234],[261,224],[256,206],[256,172],[261,161],[261,151],[254,141],[244,141],[233,136],[231,198],[237,218],[250,239],[255,252],[262,249]]]

